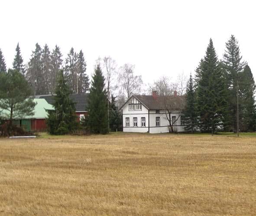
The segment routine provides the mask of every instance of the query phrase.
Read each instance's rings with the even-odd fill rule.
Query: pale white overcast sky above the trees
[[[119,66],[135,65],[144,83],[194,73],[212,38],[219,58],[233,34],[256,76],[256,5],[249,0],[5,0],[1,1],[0,48],[12,67],[19,42],[25,63],[38,42],[82,49],[87,73],[110,55]]]

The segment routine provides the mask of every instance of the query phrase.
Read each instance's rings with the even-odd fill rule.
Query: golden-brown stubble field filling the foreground
[[[256,137],[0,139],[0,215],[256,215]]]

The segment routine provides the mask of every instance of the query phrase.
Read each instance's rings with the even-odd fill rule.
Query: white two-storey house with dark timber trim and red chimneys
[[[167,133],[171,130],[169,120],[174,131],[184,131],[184,100],[176,91],[171,96],[159,96],[155,91],[152,95],[132,95],[120,108],[123,131]]]

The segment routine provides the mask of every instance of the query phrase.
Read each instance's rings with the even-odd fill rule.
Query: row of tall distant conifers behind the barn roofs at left
[[[35,95],[55,93],[56,80],[60,69],[64,71],[67,77],[71,92],[84,93],[89,89],[86,61],[82,50],[77,53],[74,48],[71,48],[63,62],[62,53],[57,45],[50,51],[47,44],[41,48],[36,43],[36,48],[32,51],[29,63],[25,65],[18,43],[12,69],[18,70],[25,76]],[[1,50],[0,72],[6,72],[6,64]]]

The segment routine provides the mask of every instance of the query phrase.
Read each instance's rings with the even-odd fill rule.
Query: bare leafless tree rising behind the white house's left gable
[[[139,93],[143,84],[141,76],[134,74],[134,65],[124,64],[120,67],[118,82],[126,99],[130,98],[133,93]]]

